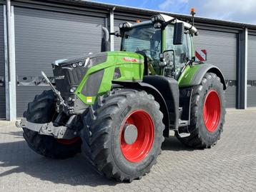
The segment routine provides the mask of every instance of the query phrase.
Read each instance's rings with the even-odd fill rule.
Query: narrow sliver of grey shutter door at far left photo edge
[[[4,84],[4,6],[0,5],[0,118],[5,114],[5,84]]]

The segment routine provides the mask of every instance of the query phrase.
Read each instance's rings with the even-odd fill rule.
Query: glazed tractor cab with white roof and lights
[[[192,61],[192,35],[197,29],[191,24],[158,14],[151,21],[119,24],[116,36],[122,37],[121,51],[144,56],[145,75],[160,75],[179,79],[180,72]]]

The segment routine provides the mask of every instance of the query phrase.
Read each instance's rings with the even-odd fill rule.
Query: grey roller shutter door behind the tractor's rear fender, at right
[[[199,30],[199,36],[194,37],[195,49],[207,50],[207,63],[217,66],[230,80],[230,86],[226,90],[226,107],[236,107],[237,80],[237,34]],[[234,85],[233,85],[234,84]]]

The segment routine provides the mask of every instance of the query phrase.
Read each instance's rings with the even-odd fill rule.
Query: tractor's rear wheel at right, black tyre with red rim
[[[225,123],[225,93],[216,74],[205,74],[199,86],[193,87],[189,137],[179,138],[187,146],[210,148],[220,139]]]

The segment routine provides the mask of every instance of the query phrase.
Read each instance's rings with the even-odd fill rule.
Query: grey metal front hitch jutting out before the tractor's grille
[[[73,121],[74,116],[69,118],[69,121]],[[72,122],[69,122],[71,124]],[[36,131],[40,135],[46,136],[54,136],[54,138],[64,138],[64,139],[72,139],[77,137],[77,131],[69,128],[68,126],[54,126],[54,123],[31,123],[26,120],[26,118],[22,118],[21,121],[16,121],[16,127],[18,128],[28,128],[31,131]]]

